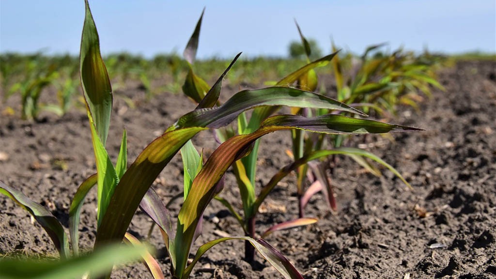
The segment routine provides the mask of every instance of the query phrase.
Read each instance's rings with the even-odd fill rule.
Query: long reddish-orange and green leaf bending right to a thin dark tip
[[[387,133],[390,131],[419,130],[417,128],[392,125],[372,120],[354,119],[341,115],[324,115],[315,118],[305,118],[295,115],[276,115],[267,118],[254,133],[238,135],[222,143],[208,158],[203,169],[198,173],[191,191],[178,215],[176,248],[190,247],[193,234],[203,210],[215,196],[215,185],[224,175],[229,166],[246,154],[248,146],[263,135],[279,131],[302,129],[327,134],[362,134]],[[186,267],[186,257],[177,259],[176,270]]]

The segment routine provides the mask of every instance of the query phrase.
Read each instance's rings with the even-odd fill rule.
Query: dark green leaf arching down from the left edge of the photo
[[[45,209],[42,205],[33,202],[31,199],[22,194],[21,191],[5,185],[1,181],[0,193],[12,199],[12,201],[28,211],[29,214],[36,219],[36,221],[48,233],[48,236],[52,239],[52,242],[57,250],[59,250],[61,259],[69,257],[69,242],[67,240],[67,235],[65,234],[61,223],[57,220],[57,218],[55,218],[54,215],[52,215],[50,211]],[[5,268],[5,265],[3,267]],[[1,268],[0,274],[3,275]]]

